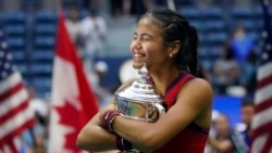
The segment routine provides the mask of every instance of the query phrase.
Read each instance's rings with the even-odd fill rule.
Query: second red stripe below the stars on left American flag
[[[1,116],[0,117],[0,125],[3,124],[4,122],[9,120],[13,116],[17,115],[20,112],[22,112],[25,109],[28,109],[28,100],[22,102],[18,106],[16,106],[15,109],[10,110],[9,113]]]

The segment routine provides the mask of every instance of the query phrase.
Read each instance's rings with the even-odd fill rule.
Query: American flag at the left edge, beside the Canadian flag
[[[0,153],[17,153],[21,133],[34,123],[27,91],[0,27]]]

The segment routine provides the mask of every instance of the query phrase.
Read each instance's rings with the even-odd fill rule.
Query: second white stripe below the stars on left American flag
[[[27,99],[28,99],[27,91],[26,89],[22,88],[18,92],[12,94],[5,101],[0,103],[0,116],[3,116],[4,114],[9,113],[9,111],[17,107]]]

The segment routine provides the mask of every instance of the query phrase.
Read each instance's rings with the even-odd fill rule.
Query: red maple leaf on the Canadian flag
[[[65,100],[63,106],[54,107],[61,118],[59,123],[69,128],[73,128],[71,132],[65,135],[64,148],[73,151],[73,153],[79,153],[81,150],[76,146],[76,137],[82,128],[79,112],[67,100]]]

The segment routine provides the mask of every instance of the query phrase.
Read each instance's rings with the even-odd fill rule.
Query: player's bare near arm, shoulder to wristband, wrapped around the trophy
[[[164,145],[191,122],[209,128],[211,101],[212,91],[208,82],[193,79],[180,91],[176,103],[157,123],[119,116],[113,122],[113,129],[122,138],[132,142],[134,148],[152,152]]]

